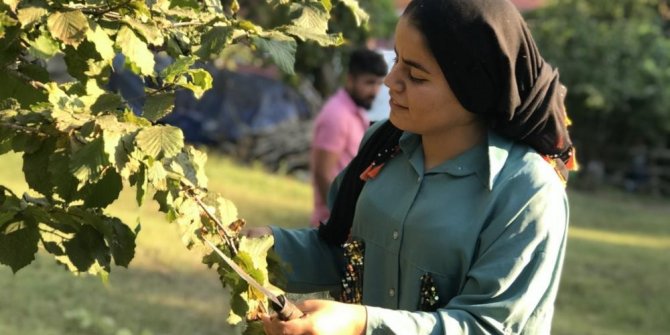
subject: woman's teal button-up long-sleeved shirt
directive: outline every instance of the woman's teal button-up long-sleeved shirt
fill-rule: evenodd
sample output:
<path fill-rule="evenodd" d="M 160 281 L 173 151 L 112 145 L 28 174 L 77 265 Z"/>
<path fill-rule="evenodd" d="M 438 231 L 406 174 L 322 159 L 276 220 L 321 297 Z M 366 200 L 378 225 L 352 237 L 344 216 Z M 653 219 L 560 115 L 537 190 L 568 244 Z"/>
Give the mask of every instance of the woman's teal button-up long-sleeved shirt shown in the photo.
<path fill-rule="evenodd" d="M 418 135 L 403 134 L 400 148 L 366 182 L 352 227 L 365 241 L 367 334 L 548 334 L 568 224 L 553 168 L 493 133 L 429 171 Z M 338 287 L 340 248 L 315 229 L 273 234 L 293 270 L 288 291 Z M 424 274 L 435 281 L 436 312 L 417 311 Z"/>

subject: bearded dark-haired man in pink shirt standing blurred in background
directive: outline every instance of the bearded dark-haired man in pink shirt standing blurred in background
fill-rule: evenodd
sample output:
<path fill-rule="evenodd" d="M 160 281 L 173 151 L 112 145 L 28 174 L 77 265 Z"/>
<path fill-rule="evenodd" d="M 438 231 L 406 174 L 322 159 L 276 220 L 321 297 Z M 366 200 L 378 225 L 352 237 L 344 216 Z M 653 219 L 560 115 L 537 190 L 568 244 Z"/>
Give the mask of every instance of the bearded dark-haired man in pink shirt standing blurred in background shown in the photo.
<path fill-rule="evenodd" d="M 324 104 L 314 121 L 311 151 L 314 227 L 328 219 L 328 188 L 335 176 L 358 151 L 365 130 L 370 125 L 366 111 L 372 106 L 387 72 L 384 58 L 367 49 L 354 51 L 344 86 Z"/>

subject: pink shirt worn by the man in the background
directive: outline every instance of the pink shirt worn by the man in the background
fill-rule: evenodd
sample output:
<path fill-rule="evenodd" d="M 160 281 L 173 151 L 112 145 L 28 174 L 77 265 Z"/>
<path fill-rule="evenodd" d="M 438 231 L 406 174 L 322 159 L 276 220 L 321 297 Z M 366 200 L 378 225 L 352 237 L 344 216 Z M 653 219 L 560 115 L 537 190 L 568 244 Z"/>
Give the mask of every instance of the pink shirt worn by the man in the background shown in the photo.
<path fill-rule="evenodd" d="M 337 153 L 337 166 L 330 173 L 330 179 L 335 179 L 344 167 L 351 162 L 358 152 L 365 130 L 370 126 L 370 120 L 365 110 L 358 107 L 347 91 L 338 90 L 321 108 L 321 112 L 314 120 L 312 134 L 311 163 L 314 166 L 314 149 L 322 149 Z M 319 221 L 328 219 L 330 215 L 326 206 L 326 199 L 319 194 L 312 171 L 312 189 L 314 190 L 314 211 L 310 224 L 314 227 Z"/>

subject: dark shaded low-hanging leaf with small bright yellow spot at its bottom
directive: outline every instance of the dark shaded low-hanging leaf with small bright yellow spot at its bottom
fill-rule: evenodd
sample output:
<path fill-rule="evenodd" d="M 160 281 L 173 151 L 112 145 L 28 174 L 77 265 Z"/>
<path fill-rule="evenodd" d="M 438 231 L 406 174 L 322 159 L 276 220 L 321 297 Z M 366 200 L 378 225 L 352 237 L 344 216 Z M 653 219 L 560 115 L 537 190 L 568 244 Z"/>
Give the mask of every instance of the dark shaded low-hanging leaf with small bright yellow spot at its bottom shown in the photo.
<path fill-rule="evenodd" d="M 65 253 L 81 272 L 88 272 L 95 265 L 109 269 L 110 253 L 102 233 L 90 225 L 84 225 L 74 237 L 63 242 Z"/>

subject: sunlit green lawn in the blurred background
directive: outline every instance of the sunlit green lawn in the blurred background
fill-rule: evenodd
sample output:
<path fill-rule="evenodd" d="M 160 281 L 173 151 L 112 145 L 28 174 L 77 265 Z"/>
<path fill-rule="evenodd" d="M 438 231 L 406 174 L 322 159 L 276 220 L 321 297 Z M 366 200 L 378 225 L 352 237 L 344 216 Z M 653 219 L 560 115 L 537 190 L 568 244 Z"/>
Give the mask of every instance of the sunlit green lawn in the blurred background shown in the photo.
<path fill-rule="evenodd" d="M 305 226 L 311 191 L 301 181 L 210 157 L 210 189 L 253 225 Z M 0 160 L 0 184 L 25 190 L 21 160 Z M 670 329 L 670 201 L 571 192 L 568 255 L 554 334 L 662 334 Z M 154 207 L 132 192 L 110 213 L 142 232 L 130 269 L 107 286 L 75 277 L 45 254 L 12 275 L 0 266 L 0 334 L 228 334 L 216 274 L 184 248 Z M 119 335 L 123 331 L 119 332 Z M 127 333 L 126 333 L 127 334 Z"/>

